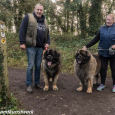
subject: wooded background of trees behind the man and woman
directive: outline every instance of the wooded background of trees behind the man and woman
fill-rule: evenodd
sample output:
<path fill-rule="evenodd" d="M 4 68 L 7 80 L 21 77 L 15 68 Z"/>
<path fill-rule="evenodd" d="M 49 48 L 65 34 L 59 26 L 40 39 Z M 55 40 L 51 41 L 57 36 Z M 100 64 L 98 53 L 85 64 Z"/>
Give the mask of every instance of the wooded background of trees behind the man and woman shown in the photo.
<path fill-rule="evenodd" d="M 52 34 L 95 35 L 106 15 L 115 13 L 115 0 L 0 0 L 0 20 L 16 33 L 23 17 L 41 3 Z"/>

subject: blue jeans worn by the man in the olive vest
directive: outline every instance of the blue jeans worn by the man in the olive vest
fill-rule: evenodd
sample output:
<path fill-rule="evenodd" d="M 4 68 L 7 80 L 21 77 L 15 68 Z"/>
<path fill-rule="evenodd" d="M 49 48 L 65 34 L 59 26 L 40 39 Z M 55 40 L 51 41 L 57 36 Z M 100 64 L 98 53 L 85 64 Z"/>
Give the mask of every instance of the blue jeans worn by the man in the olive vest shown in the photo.
<path fill-rule="evenodd" d="M 26 52 L 27 52 L 27 59 L 28 59 L 26 84 L 27 84 L 27 86 L 32 85 L 32 82 L 33 82 L 33 80 L 32 80 L 33 77 L 32 76 L 33 76 L 33 67 L 34 67 L 34 65 L 35 65 L 34 83 L 39 84 L 43 48 L 27 47 Z"/>

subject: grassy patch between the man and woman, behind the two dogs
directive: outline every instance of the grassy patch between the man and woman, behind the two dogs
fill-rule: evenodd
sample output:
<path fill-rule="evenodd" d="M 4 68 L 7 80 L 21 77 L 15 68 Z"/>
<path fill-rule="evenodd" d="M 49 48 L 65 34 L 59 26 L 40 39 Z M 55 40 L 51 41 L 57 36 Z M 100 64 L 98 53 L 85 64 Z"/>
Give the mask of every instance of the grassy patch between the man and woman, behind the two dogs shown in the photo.
<path fill-rule="evenodd" d="M 81 49 L 86 43 L 92 39 L 92 37 L 87 38 L 87 40 L 79 39 L 76 36 L 63 35 L 63 36 L 52 36 L 57 50 L 61 53 L 62 57 L 62 72 L 64 73 L 74 73 L 74 60 L 75 53 L 78 49 Z M 90 49 L 91 52 L 96 52 L 96 46 Z"/>

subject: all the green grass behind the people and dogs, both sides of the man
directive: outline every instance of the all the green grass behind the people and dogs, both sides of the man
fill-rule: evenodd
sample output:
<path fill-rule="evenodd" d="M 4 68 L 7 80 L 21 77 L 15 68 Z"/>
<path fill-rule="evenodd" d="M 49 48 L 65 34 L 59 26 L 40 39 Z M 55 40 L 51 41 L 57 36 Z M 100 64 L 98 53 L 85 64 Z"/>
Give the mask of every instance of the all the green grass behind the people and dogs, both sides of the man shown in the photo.
<path fill-rule="evenodd" d="M 72 35 L 51 35 L 50 48 L 57 49 L 61 53 L 62 58 L 62 73 L 74 73 L 74 56 L 78 49 L 81 49 L 89 40 L 93 37 L 87 37 L 84 39 L 79 39 L 77 36 Z M 7 33 L 7 53 L 8 53 L 8 67 L 15 68 L 26 68 L 27 67 L 27 56 L 26 51 L 20 49 L 19 38 L 17 34 Z M 97 46 L 93 46 L 90 49 L 91 52 L 96 52 L 94 50 Z"/>

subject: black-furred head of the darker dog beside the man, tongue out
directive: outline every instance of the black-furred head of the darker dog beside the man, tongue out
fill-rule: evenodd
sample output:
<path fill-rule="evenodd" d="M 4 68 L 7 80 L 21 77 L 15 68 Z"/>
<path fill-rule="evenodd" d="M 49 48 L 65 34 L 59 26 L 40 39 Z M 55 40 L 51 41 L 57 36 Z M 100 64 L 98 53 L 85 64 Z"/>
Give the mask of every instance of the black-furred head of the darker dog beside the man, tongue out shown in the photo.
<path fill-rule="evenodd" d="M 48 66 L 51 66 L 52 64 L 56 64 L 59 62 L 60 54 L 53 49 L 48 49 L 44 53 L 44 58 L 46 59 L 46 63 Z"/>

